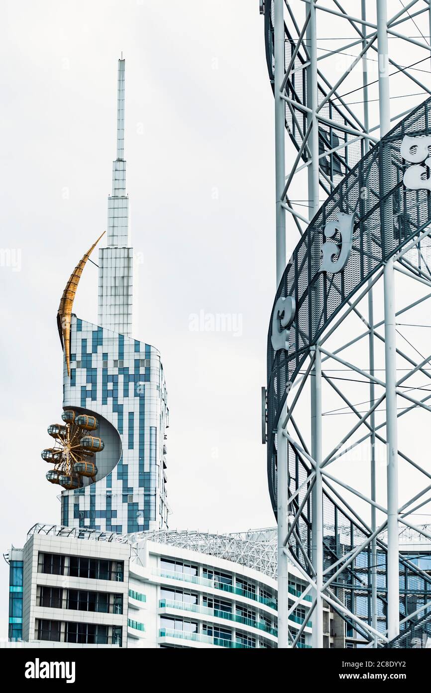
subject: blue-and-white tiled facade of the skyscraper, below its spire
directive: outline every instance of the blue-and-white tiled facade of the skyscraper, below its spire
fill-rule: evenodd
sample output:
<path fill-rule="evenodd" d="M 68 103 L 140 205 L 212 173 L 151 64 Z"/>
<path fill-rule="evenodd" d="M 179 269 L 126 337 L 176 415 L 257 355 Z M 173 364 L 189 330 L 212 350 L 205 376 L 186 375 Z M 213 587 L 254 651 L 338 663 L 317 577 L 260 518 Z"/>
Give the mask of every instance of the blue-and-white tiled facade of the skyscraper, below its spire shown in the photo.
<path fill-rule="evenodd" d="M 108 462 L 107 475 L 62 492 L 62 525 L 120 533 L 167 527 L 169 412 L 160 353 L 73 317 L 71 377 L 64 364 L 63 406 L 106 419 L 121 443 L 115 448 L 120 457 Z M 102 438 L 109 455 L 112 446 L 104 434 Z"/>

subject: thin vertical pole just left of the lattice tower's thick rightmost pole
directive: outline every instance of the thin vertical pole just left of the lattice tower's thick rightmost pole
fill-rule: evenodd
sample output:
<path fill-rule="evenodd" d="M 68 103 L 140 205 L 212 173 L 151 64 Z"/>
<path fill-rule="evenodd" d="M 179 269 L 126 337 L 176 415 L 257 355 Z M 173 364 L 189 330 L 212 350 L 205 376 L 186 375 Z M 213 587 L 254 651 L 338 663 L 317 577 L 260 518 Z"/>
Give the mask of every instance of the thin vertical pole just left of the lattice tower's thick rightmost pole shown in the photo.
<path fill-rule="evenodd" d="M 367 11 L 365 8 L 365 0 L 360 0 L 361 9 L 361 19 L 363 21 L 367 20 Z M 366 28 L 363 25 L 363 42 L 362 48 L 365 51 L 367 46 Z M 363 59 L 363 89 L 364 89 L 364 125 L 365 132 L 369 132 L 369 111 L 368 111 L 368 63 L 367 54 L 364 53 Z M 364 139 L 364 153 L 366 154 L 369 150 L 369 140 Z M 365 197 L 365 204 L 367 204 L 368 197 Z M 368 322 L 370 326 L 369 336 L 368 336 L 368 354 L 369 354 L 369 373 L 374 376 L 374 306 L 373 306 L 373 288 L 372 280 L 369 280 L 369 290 L 368 290 Z M 374 382 L 369 381 L 369 406 L 374 405 Z M 371 493 L 370 496 L 372 500 L 376 500 L 376 416 L 374 412 L 369 417 L 369 423 L 372 427 L 372 435 L 369 439 L 369 452 L 370 452 L 370 477 L 371 477 Z M 376 508 L 372 505 L 371 508 L 371 529 L 374 533 L 376 530 Z M 371 543 L 371 624 L 374 630 L 377 630 L 377 541 L 376 538 L 372 539 Z M 377 637 L 374 635 L 373 647 L 377 647 Z"/>

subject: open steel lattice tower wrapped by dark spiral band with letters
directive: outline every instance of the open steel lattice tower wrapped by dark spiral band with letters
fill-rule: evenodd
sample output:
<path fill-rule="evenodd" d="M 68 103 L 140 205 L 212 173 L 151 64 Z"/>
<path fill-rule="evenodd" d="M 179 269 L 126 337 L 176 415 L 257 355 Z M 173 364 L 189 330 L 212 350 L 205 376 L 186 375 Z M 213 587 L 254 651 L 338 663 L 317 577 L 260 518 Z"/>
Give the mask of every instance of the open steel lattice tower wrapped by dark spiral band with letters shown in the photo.
<path fill-rule="evenodd" d="M 261 2 L 275 96 L 277 292 L 264 441 L 279 647 L 392 647 L 429 617 L 430 3 Z M 288 162 L 288 163 L 287 163 Z M 308 191 L 304 195 L 304 189 Z M 288 249 L 288 252 L 287 252 Z M 291 633 L 288 559 L 309 612 Z"/>

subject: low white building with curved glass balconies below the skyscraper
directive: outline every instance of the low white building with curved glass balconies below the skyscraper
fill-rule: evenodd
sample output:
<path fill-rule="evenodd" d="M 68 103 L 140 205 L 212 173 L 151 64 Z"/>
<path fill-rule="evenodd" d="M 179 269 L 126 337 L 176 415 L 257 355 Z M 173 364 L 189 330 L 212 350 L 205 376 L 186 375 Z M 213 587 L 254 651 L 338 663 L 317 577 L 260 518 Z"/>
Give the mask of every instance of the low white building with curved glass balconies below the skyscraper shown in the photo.
<path fill-rule="evenodd" d="M 41 647 L 277 647 L 277 555 L 272 537 L 258 534 L 35 525 L 24 549 L 9 552 L 10 637 Z M 300 598 L 304 583 L 294 569 L 290 577 L 295 635 L 311 597 Z M 20 580 L 21 591 L 12 584 Z M 302 647 L 310 636 L 308 623 Z"/>

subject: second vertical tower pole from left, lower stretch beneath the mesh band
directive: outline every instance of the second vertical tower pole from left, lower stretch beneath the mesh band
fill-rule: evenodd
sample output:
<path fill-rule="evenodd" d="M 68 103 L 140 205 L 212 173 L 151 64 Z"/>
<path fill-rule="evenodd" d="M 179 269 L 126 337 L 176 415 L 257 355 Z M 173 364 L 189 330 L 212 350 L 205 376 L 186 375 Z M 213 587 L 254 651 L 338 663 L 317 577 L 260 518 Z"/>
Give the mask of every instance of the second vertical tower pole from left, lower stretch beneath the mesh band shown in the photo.
<path fill-rule="evenodd" d="M 312 347 L 313 349 L 313 347 Z M 322 357 L 317 344 L 315 361 L 311 371 L 311 456 L 315 460 L 315 484 L 311 491 L 311 560 L 316 572 L 315 599 L 313 611 L 313 648 L 323 647 L 323 498 L 322 498 Z"/>

